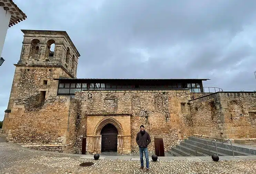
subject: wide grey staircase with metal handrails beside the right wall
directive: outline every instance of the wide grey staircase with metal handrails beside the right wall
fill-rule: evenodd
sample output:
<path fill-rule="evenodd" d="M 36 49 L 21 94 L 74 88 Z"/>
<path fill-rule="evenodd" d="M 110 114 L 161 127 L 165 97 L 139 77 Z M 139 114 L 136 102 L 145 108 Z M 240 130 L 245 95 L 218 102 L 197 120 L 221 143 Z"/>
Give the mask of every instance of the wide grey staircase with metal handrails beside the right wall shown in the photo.
<path fill-rule="evenodd" d="M 191 136 L 188 139 L 185 139 L 184 142 L 180 142 L 180 145 L 171 148 L 168 153 L 170 153 L 171 156 L 211 156 L 213 154 L 216 154 L 216 147 L 214 141 L 207 144 L 210 141 L 211 140 L 208 139 Z M 217 141 L 216 143 L 217 146 L 219 145 L 217 147 L 219 156 L 233 156 L 232 148 L 229 142 L 221 144 L 221 142 Z M 205 144 L 207 145 L 204 148 L 200 149 Z M 198 152 L 193 153 L 196 150 L 198 150 Z M 243 145 L 233 144 L 233 150 L 235 156 L 256 155 L 256 148 L 250 148 Z"/>

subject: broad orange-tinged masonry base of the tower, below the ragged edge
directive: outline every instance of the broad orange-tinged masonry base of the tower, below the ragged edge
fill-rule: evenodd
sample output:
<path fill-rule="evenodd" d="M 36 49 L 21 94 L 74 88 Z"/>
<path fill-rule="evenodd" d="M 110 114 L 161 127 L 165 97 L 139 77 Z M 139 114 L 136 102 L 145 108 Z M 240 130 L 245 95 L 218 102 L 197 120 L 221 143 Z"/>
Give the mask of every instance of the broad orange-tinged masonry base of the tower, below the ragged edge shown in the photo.
<path fill-rule="evenodd" d="M 18 108 L 7 138 L 23 145 L 66 144 L 69 99 L 58 96 L 48 99 L 39 108 Z M 61 109 L 60 109 L 61 108 Z"/>

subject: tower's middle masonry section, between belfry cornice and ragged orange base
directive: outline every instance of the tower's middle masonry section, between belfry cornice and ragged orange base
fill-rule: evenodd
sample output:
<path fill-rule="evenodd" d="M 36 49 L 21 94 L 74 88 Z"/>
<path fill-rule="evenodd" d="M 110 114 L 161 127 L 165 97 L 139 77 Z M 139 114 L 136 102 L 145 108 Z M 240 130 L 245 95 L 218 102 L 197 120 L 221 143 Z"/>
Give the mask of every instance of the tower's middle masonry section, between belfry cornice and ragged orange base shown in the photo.
<path fill-rule="evenodd" d="M 17 66 L 12 82 L 12 89 L 8 109 L 13 108 L 16 102 L 27 101 L 27 105 L 38 104 L 40 91 L 47 91 L 47 97 L 57 95 L 58 81 L 53 78 L 70 77 L 62 68 Z M 44 84 L 47 80 L 47 84 Z"/>

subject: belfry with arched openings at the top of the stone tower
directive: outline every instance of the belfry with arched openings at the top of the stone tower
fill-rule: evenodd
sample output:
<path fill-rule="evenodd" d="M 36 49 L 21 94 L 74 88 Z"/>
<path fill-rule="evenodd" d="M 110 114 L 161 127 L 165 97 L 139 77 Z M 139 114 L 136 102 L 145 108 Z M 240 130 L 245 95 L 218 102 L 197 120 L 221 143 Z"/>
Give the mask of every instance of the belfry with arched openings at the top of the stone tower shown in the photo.
<path fill-rule="evenodd" d="M 66 31 L 21 30 L 24 33 L 20 66 L 62 67 L 76 78 L 80 54 Z"/>

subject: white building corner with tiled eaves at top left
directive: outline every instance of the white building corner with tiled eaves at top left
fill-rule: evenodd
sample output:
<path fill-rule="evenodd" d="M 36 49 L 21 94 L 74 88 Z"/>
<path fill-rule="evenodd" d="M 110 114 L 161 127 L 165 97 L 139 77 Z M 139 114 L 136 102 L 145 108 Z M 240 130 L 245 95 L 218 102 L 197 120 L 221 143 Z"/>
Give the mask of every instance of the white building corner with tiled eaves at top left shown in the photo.
<path fill-rule="evenodd" d="M 11 27 L 27 18 L 12 0 L 0 0 L 0 55 L 8 27 Z"/>

